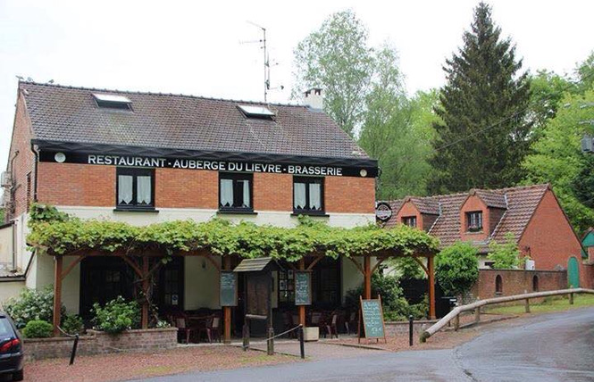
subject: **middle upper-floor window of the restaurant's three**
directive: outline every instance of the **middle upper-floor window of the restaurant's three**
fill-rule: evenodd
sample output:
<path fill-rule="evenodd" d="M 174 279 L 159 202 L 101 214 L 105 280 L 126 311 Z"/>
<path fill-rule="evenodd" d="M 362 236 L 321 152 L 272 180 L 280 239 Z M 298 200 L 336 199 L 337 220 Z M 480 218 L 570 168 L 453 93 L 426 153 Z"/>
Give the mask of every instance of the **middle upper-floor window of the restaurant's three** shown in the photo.
<path fill-rule="evenodd" d="M 254 211 L 252 206 L 253 174 L 219 173 L 219 209 Z"/>

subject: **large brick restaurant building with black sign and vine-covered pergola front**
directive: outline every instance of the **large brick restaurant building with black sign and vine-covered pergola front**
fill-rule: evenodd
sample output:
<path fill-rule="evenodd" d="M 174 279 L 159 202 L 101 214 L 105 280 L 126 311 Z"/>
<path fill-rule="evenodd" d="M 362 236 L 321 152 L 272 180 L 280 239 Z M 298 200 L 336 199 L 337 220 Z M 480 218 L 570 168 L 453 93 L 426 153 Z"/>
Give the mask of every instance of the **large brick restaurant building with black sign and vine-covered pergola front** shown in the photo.
<path fill-rule="evenodd" d="M 52 258 L 25 245 L 34 201 L 138 225 L 218 216 L 290 227 L 299 214 L 338 227 L 374 221 L 377 161 L 319 109 L 321 97 L 262 104 L 20 82 L 4 173 L 13 268 L 29 287 L 54 279 Z M 212 264 L 179 257 L 161 271 L 164 309 L 220 307 Z M 67 310 L 86 314 L 127 293 L 129 273 L 121 259 L 83 260 L 63 279 Z M 275 278 L 273 304 L 292 303 L 292 273 Z M 351 262 L 318 262 L 314 303 L 339 304 L 362 279 Z"/>

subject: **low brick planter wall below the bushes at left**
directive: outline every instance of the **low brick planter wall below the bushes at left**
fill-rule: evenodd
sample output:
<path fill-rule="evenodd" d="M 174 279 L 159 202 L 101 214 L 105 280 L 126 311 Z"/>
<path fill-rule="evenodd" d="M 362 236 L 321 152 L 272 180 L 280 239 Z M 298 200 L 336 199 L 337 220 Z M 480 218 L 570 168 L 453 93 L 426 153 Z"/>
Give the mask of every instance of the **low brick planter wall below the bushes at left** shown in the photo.
<path fill-rule="evenodd" d="M 88 330 L 80 336 L 77 355 L 119 352 L 149 352 L 177 346 L 177 328 L 128 330 L 118 335 Z M 74 338 L 25 338 L 25 358 L 28 361 L 70 357 Z"/>

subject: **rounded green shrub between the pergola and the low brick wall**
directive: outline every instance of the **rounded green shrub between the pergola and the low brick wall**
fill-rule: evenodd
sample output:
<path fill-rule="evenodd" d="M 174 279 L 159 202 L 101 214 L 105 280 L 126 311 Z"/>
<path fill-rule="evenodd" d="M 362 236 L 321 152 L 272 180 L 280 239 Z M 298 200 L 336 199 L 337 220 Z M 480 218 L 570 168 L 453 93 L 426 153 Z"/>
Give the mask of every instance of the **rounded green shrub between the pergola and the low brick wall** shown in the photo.
<path fill-rule="evenodd" d="M 464 295 L 479 278 L 478 251 L 467 242 L 444 248 L 437 256 L 435 276 L 448 295 Z"/>

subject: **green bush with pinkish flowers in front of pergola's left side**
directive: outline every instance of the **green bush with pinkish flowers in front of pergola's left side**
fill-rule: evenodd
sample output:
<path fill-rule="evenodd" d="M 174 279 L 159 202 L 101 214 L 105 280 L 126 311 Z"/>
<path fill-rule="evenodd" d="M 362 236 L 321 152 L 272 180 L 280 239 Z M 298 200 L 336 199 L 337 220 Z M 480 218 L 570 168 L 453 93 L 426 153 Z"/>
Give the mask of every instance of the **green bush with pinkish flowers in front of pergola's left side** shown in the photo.
<path fill-rule="evenodd" d="M 138 303 L 127 303 L 120 295 L 116 299 L 105 303 L 102 308 L 98 303 L 93 304 L 95 312 L 95 328 L 107 333 L 120 333 L 124 330 L 140 326 L 140 308 Z"/>

